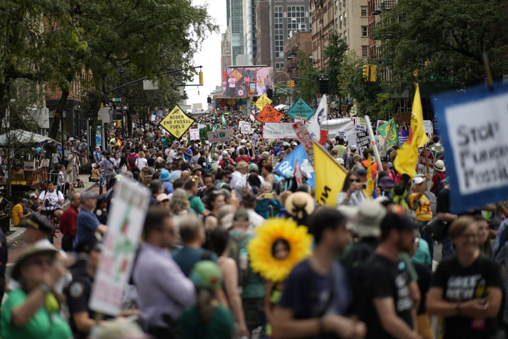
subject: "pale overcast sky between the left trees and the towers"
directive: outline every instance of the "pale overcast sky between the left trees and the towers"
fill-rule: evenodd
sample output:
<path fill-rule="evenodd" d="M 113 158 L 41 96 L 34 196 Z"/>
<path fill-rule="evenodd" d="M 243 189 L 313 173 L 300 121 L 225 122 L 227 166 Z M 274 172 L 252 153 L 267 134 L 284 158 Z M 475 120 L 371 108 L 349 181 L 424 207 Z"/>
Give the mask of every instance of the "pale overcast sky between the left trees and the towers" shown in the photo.
<path fill-rule="evenodd" d="M 215 89 L 215 86 L 221 84 L 220 70 L 220 39 L 221 33 L 226 32 L 226 1 L 225 0 L 193 0 L 193 5 L 208 4 L 208 14 L 214 18 L 215 23 L 219 25 L 220 32 L 209 36 L 201 46 L 201 50 L 194 56 L 194 65 L 203 66 L 204 84 L 203 86 L 187 86 L 188 105 L 202 103 L 203 108 L 207 108 L 207 96 Z M 196 75 L 194 82 L 199 83 L 199 77 Z M 199 95 L 198 95 L 199 89 Z"/>

